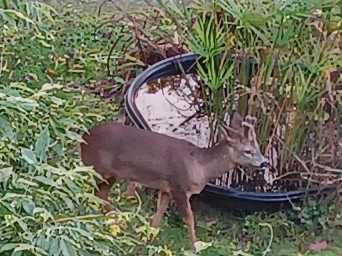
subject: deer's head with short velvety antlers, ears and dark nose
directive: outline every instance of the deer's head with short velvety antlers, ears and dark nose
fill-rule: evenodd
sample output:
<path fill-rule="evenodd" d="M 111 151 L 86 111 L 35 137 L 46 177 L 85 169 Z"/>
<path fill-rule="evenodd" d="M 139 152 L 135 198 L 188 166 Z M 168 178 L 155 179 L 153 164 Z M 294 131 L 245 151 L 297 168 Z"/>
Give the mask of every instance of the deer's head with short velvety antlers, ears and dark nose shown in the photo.
<path fill-rule="evenodd" d="M 234 112 L 230 126 L 222 127 L 228 145 L 233 149 L 232 160 L 242 166 L 253 166 L 266 168 L 268 160 L 265 158 L 259 148 L 257 136 L 254 131 L 254 124 L 257 118 L 246 116 L 245 121 L 237 111 Z"/>

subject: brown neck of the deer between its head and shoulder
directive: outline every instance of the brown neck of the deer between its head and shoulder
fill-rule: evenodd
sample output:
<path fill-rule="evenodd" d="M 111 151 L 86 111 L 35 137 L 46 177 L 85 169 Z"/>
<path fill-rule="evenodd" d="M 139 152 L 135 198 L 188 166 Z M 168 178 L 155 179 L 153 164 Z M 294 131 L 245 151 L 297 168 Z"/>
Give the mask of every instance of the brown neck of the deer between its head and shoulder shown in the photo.
<path fill-rule="evenodd" d="M 233 160 L 235 153 L 233 147 L 229 146 L 226 141 L 222 141 L 211 148 L 203 149 L 199 163 L 203 167 L 206 182 L 235 168 L 236 163 Z"/>

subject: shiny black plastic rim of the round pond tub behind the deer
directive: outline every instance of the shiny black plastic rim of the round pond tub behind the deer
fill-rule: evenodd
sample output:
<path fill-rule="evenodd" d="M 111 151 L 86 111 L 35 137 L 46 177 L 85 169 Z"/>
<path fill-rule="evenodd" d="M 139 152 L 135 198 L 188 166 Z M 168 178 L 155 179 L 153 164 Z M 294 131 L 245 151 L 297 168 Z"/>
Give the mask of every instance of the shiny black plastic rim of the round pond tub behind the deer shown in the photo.
<path fill-rule="evenodd" d="M 157 80 L 162 77 L 181 75 L 182 70 L 180 68 L 180 64 L 186 74 L 194 74 L 196 72 L 196 59 L 198 58 L 199 56 L 193 53 L 171 57 L 155 63 L 136 77 L 136 79 L 128 88 L 125 98 L 126 111 L 136 127 L 145 130 L 151 130 L 135 104 L 135 99 L 139 89 L 147 82 Z M 231 56 L 231 58 L 234 58 L 234 56 Z M 249 80 L 256 71 L 256 66 L 257 61 L 250 59 L 248 67 L 248 74 L 250 76 Z M 211 193 L 240 199 L 281 202 L 300 199 L 304 198 L 305 196 L 315 195 L 317 193 L 320 195 L 328 194 L 334 190 L 334 186 L 323 186 L 320 188 L 311 187 L 309 189 L 300 188 L 298 190 L 291 190 L 287 192 L 253 192 L 242 191 L 234 188 L 224 188 L 213 183 L 208 183 L 205 187 L 205 190 Z"/>

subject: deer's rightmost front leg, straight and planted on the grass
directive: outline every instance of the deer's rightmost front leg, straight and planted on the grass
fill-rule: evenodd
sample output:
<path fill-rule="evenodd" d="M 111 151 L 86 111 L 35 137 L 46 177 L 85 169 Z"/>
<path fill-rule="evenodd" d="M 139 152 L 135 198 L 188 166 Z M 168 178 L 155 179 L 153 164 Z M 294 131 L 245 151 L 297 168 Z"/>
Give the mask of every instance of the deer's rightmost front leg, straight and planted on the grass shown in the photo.
<path fill-rule="evenodd" d="M 184 195 L 175 195 L 173 194 L 175 203 L 178 207 L 178 209 L 182 212 L 185 223 L 188 227 L 188 231 L 190 234 L 190 243 L 191 247 L 194 249 L 195 248 L 195 242 L 196 242 L 196 232 L 195 232 L 195 219 L 194 219 L 194 214 L 191 209 L 191 205 L 189 202 L 189 197 L 184 194 Z"/>

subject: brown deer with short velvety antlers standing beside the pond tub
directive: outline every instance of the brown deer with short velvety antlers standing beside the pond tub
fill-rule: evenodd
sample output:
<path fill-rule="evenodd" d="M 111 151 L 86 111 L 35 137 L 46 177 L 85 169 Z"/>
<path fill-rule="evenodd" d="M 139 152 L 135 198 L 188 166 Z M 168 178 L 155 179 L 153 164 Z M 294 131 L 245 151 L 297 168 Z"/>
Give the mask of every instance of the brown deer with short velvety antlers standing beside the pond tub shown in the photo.
<path fill-rule="evenodd" d="M 104 201 L 107 211 L 114 209 L 108 192 L 121 181 L 159 190 L 152 227 L 159 227 L 173 199 L 184 217 L 194 249 L 196 234 L 190 197 L 199 194 L 210 180 L 238 165 L 263 169 L 268 165 L 257 142 L 256 121 L 249 115 L 243 120 L 235 111 L 230 125 L 221 126 L 225 139 L 209 148 L 122 123 L 101 124 L 83 134 L 81 159 L 107 181 L 98 181 L 95 190 L 95 196 Z"/>

